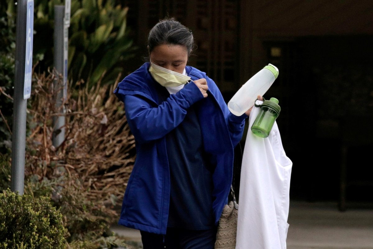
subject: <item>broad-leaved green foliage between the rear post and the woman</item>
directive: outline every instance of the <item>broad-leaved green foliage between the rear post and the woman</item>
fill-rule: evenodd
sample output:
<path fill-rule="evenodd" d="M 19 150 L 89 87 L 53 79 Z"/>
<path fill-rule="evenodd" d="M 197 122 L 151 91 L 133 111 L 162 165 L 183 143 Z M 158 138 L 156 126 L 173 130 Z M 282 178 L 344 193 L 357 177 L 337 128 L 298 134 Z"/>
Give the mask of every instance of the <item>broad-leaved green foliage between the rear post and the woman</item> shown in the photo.
<path fill-rule="evenodd" d="M 90 86 L 113 84 L 123 72 L 124 62 L 134 56 L 126 34 L 128 7 L 115 0 L 73 0 L 69 32 L 69 75 L 73 82 Z"/>

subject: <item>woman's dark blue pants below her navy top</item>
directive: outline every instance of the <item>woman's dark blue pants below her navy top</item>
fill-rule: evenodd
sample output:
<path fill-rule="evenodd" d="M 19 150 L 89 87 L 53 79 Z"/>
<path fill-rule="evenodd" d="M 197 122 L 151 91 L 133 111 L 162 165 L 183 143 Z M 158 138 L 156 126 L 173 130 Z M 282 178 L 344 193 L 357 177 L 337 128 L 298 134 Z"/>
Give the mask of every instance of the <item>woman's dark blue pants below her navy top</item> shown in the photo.
<path fill-rule="evenodd" d="M 216 228 L 188 230 L 167 228 L 166 235 L 140 231 L 144 249 L 213 249 Z"/>

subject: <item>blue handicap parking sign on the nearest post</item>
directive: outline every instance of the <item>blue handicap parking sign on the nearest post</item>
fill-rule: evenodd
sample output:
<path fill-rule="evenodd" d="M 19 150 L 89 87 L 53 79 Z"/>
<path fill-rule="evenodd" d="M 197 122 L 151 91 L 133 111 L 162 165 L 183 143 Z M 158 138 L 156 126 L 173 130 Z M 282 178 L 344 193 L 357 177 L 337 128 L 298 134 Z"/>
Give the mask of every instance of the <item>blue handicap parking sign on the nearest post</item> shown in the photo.
<path fill-rule="evenodd" d="M 26 11 L 25 84 L 23 86 L 23 99 L 28 99 L 31 96 L 32 40 L 34 38 L 34 0 L 27 0 Z"/>

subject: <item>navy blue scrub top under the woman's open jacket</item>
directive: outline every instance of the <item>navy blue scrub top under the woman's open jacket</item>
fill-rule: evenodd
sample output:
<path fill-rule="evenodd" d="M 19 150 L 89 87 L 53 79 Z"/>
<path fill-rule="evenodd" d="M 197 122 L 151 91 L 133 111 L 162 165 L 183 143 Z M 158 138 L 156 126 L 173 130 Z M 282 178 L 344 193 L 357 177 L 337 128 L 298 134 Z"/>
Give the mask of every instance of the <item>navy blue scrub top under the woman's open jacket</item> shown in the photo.
<path fill-rule="evenodd" d="M 193 83 L 188 83 L 193 84 Z M 169 96 L 165 87 L 156 87 L 159 102 Z M 170 206 L 167 227 L 204 230 L 214 227 L 212 171 L 203 153 L 201 128 L 194 103 L 184 120 L 166 135 L 170 166 Z"/>

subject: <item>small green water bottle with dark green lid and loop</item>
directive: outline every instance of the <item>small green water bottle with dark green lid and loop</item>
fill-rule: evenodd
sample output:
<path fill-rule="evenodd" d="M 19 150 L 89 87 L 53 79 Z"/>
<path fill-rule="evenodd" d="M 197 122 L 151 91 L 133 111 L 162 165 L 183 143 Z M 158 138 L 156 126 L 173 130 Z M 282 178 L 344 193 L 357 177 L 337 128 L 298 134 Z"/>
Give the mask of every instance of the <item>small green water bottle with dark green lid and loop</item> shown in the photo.
<path fill-rule="evenodd" d="M 260 111 L 256 117 L 254 124 L 251 126 L 251 131 L 258 137 L 268 137 L 275 124 L 276 118 L 279 116 L 281 108 L 278 105 L 279 101 L 276 98 L 264 100 L 260 106 Z"/>

